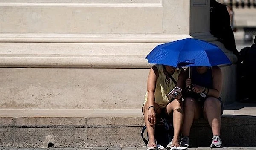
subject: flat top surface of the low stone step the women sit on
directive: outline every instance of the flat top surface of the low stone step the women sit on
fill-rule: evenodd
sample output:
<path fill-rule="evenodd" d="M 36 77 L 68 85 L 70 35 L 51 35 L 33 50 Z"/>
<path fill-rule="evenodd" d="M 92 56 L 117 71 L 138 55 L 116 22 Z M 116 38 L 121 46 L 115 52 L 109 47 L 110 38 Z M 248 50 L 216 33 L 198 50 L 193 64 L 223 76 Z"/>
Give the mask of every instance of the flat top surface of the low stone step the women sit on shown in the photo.
<path fill-rule="evenodd" d="M 256 117 L 256 104 L 233 103 L 225 106 L 224 118 Z M 0 109 L 0 117 L 143 117 L 140 109 Z"/>

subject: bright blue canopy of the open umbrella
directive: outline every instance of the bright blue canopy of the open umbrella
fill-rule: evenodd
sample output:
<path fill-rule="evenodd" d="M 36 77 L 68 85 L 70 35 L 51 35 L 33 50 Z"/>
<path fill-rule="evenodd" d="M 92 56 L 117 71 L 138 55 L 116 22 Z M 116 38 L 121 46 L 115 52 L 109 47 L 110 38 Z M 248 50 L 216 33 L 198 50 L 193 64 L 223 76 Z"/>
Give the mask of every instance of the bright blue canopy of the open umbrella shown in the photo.
<path fill-rule="evenodd" d="M 145 59 L 148 63 L 173 67 L 216 66 L 231 63 L 217 45 L 192 38 L 160 44 Z"/>

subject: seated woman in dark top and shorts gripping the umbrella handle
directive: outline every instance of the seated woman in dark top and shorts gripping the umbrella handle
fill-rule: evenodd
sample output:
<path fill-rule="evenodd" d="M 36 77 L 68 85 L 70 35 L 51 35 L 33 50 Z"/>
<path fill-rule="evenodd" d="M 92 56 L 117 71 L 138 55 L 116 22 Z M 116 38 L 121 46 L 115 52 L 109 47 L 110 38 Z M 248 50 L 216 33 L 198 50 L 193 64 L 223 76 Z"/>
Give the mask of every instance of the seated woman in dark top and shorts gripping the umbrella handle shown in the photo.
<path fill-rule="evenodd" d="M 189 68 L 186 75 L 189 75 Z M 184 121 L 182 127 L 182 146 L 189 147 L 189 133 L 194 120 L 202 115 L 212 128 L 211 148 L 222 147 L 221 115 L 223 103 L 220 98 L 222 72 L 218 66 L 190 67 L 191 78 L 186 79 L 186 98 L 184 100 Z M 189 88 L 190 87 L 190 88 Z"/>

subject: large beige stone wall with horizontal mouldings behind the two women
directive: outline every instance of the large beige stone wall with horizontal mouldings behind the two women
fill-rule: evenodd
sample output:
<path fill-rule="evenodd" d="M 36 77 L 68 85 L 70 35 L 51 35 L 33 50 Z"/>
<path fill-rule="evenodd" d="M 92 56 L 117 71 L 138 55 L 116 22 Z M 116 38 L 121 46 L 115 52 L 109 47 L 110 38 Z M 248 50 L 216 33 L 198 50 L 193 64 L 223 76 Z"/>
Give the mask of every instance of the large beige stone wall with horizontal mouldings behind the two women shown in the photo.
<path fill-rule="evenodd" d="M 0 18 L 4 109 L 139 109 L 155 46 L 218 43 L 209 0 L 0 0 Z M 223 97 L 234 101 L 236 66 L 223 70 Z"/>

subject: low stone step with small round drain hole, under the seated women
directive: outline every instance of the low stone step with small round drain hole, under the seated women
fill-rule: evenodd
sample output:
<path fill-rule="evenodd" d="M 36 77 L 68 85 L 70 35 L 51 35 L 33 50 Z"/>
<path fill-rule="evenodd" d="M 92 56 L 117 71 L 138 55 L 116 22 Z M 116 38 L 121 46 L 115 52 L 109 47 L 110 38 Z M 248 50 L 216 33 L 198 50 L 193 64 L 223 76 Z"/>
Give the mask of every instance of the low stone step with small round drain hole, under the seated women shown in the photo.
<path fill-rule="evenodd" d="M 227 105 L 221 120 L 224 146 L 256 146 L 256 104 Z M 141 147 L 144 126 L 139 109 L 0 110 L 2 147 Z M 195 121 L 190 142 L 209 147 L 212 132 L 204 119 Z M 239 139 L 239 140 L 238 140 Z"/>

